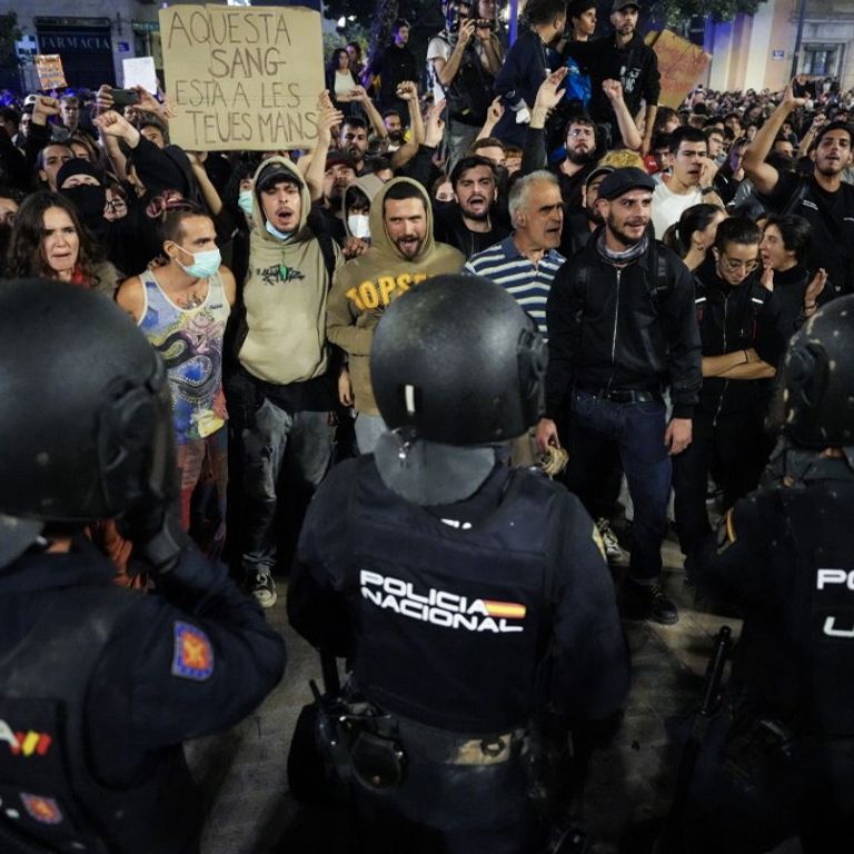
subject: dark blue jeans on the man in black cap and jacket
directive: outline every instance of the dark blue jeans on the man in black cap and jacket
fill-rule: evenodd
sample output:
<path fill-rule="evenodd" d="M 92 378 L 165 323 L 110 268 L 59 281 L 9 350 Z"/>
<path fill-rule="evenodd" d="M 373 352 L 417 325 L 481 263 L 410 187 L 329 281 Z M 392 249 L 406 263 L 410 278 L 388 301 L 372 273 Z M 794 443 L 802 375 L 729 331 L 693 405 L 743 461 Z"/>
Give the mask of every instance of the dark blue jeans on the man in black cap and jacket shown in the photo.
<path fill-rule="evenodd" d="M 662 572 L 662 540 L 671 494 L 671 457 L 663 401 L 615 404 L 573 391 L 569 405 L 566 485 L 588 513 L 595 510 L 598 481 L 608 471 L 616 444 L 635 506 L 629 577 L 649 584 Z"/>

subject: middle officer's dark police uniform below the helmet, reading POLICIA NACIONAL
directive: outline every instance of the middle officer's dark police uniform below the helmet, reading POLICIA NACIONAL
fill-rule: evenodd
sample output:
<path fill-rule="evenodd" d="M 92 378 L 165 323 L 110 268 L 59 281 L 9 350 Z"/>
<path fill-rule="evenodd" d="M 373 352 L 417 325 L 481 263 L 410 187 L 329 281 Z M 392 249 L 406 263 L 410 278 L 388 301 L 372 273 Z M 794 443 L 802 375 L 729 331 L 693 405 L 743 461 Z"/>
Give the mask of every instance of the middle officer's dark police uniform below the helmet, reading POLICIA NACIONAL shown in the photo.
<path fill-rule="evenodd" d="M 352 784 L 365 851 L 535 851 L 532 724 L 605 718 L 628 688 L 593 522 L 534 471 L 496 466 L 471 497 L 424 507 L 374 456 L 337 466 L 288 605 L 310 643 L 349 656 L 369 735 L 403 754 L 394 785 Z"/>

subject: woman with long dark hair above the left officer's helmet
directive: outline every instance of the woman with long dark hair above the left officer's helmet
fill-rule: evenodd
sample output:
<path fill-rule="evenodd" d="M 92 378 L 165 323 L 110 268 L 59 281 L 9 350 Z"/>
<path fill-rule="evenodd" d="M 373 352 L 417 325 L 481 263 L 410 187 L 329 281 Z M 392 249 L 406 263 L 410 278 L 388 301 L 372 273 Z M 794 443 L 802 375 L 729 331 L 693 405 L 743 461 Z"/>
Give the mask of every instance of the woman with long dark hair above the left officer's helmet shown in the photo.
<path fill-rule="evenodd" d="M 9 278 L 46 278 L 101 290 L 117 288 L 116 268 L 82 225 L 75 206 L 56 192 L 28 196 L 18 209 L 7 264 Z"/>

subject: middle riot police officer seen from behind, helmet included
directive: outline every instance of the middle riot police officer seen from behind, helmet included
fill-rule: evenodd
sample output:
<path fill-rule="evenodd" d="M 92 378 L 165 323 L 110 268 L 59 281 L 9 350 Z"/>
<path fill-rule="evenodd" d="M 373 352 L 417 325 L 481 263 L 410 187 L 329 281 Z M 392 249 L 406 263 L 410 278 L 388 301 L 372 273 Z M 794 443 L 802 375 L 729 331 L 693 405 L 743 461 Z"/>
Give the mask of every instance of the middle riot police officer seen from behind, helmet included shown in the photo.
<path fill-rule="evenodd" d="M 364 850 L 542 851 L 538 739 L 628 687 L 590 517 L 498 458 L 542 413 L 543 339 L 502 287 L 438 276 L 386 311 L 370 361 L 391 433 L 315 496 L 288 602 L 298 632 L 349 656 Z"/>

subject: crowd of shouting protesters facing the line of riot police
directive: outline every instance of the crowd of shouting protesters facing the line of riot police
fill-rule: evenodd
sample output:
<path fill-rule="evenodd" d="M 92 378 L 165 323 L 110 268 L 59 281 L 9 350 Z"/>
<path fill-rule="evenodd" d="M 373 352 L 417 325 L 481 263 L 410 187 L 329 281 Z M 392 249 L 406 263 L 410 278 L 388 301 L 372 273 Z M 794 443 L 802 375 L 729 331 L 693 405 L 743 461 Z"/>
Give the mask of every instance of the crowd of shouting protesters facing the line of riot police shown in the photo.
<path fill-rule="evenodd" d="M 577 277 L 578 254 L 595 252 L 605 229 L 628 255 L 644 240 L 682 259 L 697 377 L 676 394 L 659 366 L 647 386 L 668 419 L 693 424 L 671 444 L 658 490 L 665 502 L 675 490 L 688 575 L 709 489 L 725 509 L 767 460 L 763 420 L 785 341 L 817 306 L 854 291 L 854 91 L 833 79 L 777 92 L 697 86 L 672 109 L 658 105 L 636 3 L 617 0 L 613 33 L 592 40 L 608 29 L 595 6 L 530 0 L 512 46 L 495 0 L 443 11 L 425 57 L 409 49 L 405 20 L 373 64 L 357 42 L 331 52 L 317 143 L 304 151 L 183 150 L 170 142 L 168 101 L 142 89 L 123 108 L 103 86 L 9 96 L 2 109 L 4 277 L 97 289 L 136 319 L 169 368 L 182 523 L 205 548 L 226 548 L 266 606 L 315 487 L 385 428 L 373 330 L 424 278 L 465 268 L 502 284 L 552 332 L 554 354 L 567 341 L 555 340 L 559 322 L 550 328 L 553 285 L 562 269 Z M 620 232 L 618 197 L 599 192 L 626 170 L 649 189 Z M 568 358 L 567 393 L 584 360 Z M 549 429 L 514 455 L 569 448 L 564 476 L 613 560 L 625 558 L 612 524 L 629 475 L 633 557 L 657 554 L 667 512 L 651 518 L 638 500 L 625 443 L 612 436 L 585 473 L 595 488 L 578 486 L 577 418 L 553 403 Z M 640 616 L 673 622 L 661 559 L 649 566 L 635 578 Z"/>

